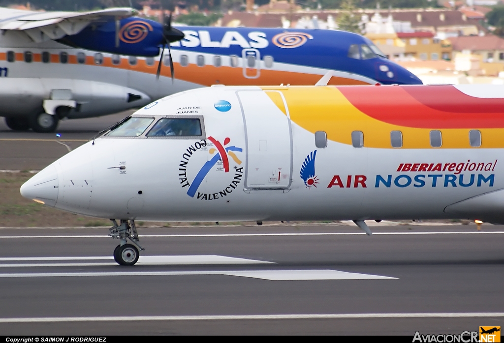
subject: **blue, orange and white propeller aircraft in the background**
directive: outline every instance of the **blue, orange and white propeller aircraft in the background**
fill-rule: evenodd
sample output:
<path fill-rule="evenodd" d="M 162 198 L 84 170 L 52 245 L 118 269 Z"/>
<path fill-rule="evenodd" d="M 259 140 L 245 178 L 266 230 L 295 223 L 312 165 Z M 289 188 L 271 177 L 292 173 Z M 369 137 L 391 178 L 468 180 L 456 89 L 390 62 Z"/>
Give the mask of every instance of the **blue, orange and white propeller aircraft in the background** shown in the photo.
<path fill-rule="evenodd" d="M 135 13 L 0 9 L 0 116 L 7 125 L 52 132 L 60 119 L 139 108 L 193 88 L 312 85 L 328 71 L 333 72 L 329 84 L 421 83 L 353 33 L 217 27 L 179 31 L 169 21 L 161 25 L 131 17 Z"/>

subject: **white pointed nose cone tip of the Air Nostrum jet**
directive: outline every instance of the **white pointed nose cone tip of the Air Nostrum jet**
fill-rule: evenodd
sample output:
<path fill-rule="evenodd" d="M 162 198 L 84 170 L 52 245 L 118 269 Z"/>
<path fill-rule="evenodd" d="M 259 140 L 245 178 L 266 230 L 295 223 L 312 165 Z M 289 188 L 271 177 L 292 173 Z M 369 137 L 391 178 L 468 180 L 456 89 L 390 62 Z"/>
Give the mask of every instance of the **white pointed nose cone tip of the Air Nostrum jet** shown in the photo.
<path fill-rule="evenodd" d="M 58 200 L 58 174 L 54 165 L 42 169 L 25 182 L 19 191 L 27 199 L 54 207 Z"/>

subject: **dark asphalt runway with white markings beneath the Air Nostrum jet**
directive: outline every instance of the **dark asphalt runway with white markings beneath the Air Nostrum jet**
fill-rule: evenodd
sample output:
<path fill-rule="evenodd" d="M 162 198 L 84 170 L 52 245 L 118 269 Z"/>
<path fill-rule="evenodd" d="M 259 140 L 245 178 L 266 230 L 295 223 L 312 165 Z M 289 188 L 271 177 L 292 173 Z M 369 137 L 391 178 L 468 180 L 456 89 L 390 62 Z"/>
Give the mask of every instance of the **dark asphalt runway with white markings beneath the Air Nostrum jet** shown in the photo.
<path fill-rule="evenodd" d="M 502 325 L 504 226 L 0 230 L 3 334 L 422 334 Z"/>

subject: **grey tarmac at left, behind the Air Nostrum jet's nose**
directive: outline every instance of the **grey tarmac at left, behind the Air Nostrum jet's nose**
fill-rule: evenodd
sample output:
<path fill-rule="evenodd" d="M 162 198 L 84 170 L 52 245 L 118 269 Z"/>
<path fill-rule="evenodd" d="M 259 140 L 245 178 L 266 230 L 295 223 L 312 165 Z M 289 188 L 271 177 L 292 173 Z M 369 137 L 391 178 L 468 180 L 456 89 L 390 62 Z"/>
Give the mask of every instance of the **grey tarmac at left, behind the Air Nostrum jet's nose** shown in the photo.
<path fill-rule="evenodd" d="M 0 169 L 40 170 L 133 112 L 60 121 L 55 133 L 12 131 L 0 118 Z"/>

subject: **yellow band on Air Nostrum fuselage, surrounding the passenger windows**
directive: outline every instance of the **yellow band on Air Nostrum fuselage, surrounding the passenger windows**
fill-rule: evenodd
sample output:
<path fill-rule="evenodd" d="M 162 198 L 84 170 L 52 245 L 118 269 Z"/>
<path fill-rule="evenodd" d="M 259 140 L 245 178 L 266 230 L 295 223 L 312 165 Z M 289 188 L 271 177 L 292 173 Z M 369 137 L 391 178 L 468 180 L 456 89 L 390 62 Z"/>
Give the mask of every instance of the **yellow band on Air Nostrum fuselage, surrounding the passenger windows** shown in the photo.
<path fill-rule="evenodd" d="M 372 91 L 374 86 L 369 87 Z M 329 140 L 343 144 L 352 144 L 352 131 L 362 131 L 364 146 L 371 148 L 391 148 L 390 132 L 401 131 L 403 148 L 431 148 L 429 132 L 439 130 L 443 135 L 443 145 L 440 148 L 460 149 L 471 148 L 469 144 L 469 129 L 418 129 L 398 126 L 376 120 L 359 111 L 343 94 L 333 86 L 328 87 L 262 87 L 264 91 L 278 90 L 283 93 L 289 108 L 290 119 L 308 130 L 325 131 Z M 266 92 L 277 104 L 274 92 Z M 391 99 L 393 102 L 394 99 Z M 285 111 L 283 108 L 280 108 Z M 400 108 L 397 109 L 401 111 Z M 408 113 L 404 113 L 405 116 Z M 475 127 L 474 129 L 479 129 Z M 504 129 L 479 129 L 481 131 L 481 148 L 503 148 Z"/>

